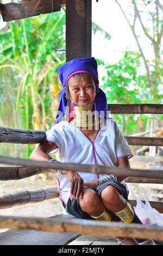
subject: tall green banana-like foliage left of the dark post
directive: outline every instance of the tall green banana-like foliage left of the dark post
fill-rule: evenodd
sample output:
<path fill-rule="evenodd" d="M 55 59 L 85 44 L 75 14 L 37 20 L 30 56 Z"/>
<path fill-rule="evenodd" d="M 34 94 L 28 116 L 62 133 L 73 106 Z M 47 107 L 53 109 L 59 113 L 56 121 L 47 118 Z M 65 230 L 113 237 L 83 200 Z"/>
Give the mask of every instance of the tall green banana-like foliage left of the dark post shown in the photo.
<path fill-rule="evenodd" d="M 51 126 L 60 90 L 57 68 L 65 59 L 64 52 L 55 50 L 65 48 L 64 25 L 65 15 L 57 12 L 8 22 L 0 32 L 2 126 Z M 31 150 L 28 145 L 27 157 Z"/>

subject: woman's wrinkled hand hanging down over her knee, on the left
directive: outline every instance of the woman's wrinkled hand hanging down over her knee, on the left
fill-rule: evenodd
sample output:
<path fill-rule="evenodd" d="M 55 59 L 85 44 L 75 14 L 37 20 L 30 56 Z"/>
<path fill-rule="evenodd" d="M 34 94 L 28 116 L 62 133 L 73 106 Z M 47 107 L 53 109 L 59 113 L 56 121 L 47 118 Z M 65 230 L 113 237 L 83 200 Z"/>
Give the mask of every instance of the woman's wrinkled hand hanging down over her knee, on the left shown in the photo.
<path fill-rule="evenodd" d="M 83 198 L 83 178 L 80 177 L 77 171 L 62 171 L 62 174 L 70 181 L 70 198 L 78 199 Z"/>

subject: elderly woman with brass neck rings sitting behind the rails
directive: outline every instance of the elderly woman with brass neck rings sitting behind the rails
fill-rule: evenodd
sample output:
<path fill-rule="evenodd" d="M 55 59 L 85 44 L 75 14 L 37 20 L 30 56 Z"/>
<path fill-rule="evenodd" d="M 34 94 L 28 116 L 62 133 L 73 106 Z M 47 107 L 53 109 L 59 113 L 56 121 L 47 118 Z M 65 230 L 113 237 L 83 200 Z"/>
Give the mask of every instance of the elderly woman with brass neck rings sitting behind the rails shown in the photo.
<path fill-rule="evenodd" d="M 107 114 L 105 93 L 99 88 L 95 58 L 73 59 L 58 69 L 64 89 L 59 111 L 46 140 L 30 159 L 52 162 L 49 153 L 59 151 L 61 163 L 130 167 L 133 156 L 116 122 Z M 65 107 L 71 112 L 65 121 Z M 84 115 L 85 114 L 85 115 Z M 58 171 L 58 188 L 65 214 L 97 221 L 141 223 L 128 202 L 126 176 Z M 121 245 L 139 245 L 134 238 L 118 238 Z M 141 241 L 142 242 L 142 241 Z M 143 241 L 146 245 L 153 241 Z"/>

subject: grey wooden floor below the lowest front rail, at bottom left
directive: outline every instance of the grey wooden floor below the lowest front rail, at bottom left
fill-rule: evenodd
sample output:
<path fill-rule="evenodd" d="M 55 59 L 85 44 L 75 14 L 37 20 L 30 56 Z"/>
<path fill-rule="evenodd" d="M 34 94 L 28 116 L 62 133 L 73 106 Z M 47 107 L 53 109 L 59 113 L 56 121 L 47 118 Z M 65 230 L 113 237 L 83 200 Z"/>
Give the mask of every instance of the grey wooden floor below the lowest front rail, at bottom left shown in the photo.
<path fill-rule="evenodd" d="M 0 245 L 117 245 L 115 239 L 80 236 L 73 233 L 49 233 L 36 230 L 0 230 Z"/>

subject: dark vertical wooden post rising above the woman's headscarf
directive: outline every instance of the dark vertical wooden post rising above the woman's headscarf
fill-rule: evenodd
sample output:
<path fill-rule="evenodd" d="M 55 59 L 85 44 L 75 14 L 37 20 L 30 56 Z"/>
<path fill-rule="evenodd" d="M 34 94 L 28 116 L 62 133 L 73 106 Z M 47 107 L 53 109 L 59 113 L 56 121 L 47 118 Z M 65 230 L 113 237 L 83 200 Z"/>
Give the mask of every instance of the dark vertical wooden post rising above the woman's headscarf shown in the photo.
<path fill-rule="evenodd" d="M 91 0 L 66 0 L 66 62 L 91 57 Z"/>

